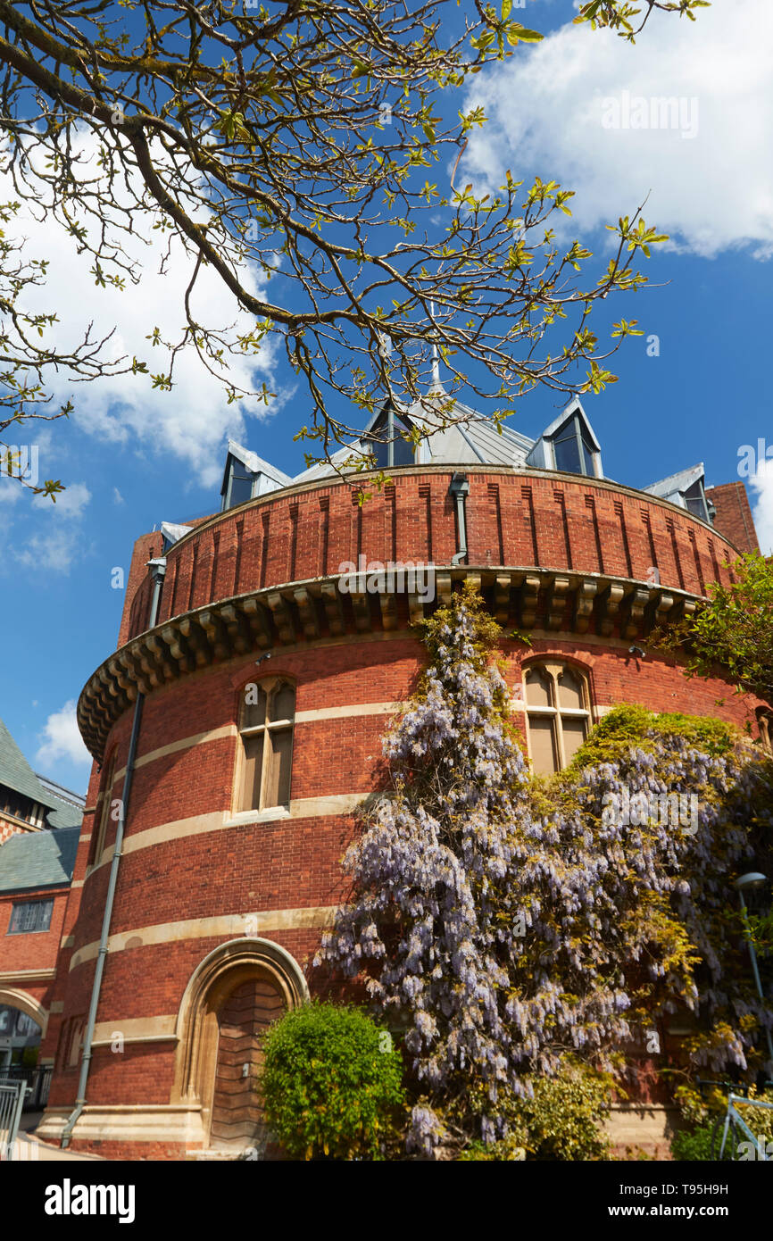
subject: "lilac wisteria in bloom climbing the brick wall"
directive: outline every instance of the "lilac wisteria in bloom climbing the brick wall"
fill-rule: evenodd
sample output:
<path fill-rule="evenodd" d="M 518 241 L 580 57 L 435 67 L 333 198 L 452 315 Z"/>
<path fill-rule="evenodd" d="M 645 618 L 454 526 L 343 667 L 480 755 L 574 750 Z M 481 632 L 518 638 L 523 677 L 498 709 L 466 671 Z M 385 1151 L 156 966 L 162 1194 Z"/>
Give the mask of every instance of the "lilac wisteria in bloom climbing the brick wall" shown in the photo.
<path fill-rule="evenodd" d="M 697 1013 L 690 1050 L 712 1067 L 746 1066 L 772 1020 L 728 913 L 769 769 L 640 728 L 615 761 L 581 753 L 535 783 L 500 638 L 469 589 L 427 622 L 424 684 L 385 740 L 390 786 L 346 854 L 352 901 L 319 958 L 404 1030 L 422 1096 L 408 1148 L 427 1157 L 449 1129 L 505 1137 L 514 1102 L 567 1056 L 619 1069 L 620 1046 L 677 1006 Z M 697 823 L 620 822 L 605 808 L 623 793 L 696 794 Z"/>

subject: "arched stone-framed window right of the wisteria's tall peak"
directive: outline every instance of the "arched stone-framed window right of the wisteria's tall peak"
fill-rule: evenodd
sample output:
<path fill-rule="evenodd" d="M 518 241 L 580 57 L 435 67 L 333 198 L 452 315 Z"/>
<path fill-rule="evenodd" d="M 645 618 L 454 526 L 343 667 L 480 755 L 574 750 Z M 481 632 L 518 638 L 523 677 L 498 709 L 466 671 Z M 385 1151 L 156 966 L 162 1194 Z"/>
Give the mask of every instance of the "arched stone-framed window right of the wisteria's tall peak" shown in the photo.
<path fill-rule="evenodd" d="M 556 660 L 530 664 L 524 671 L 524 699 L 535 772 L 546 776 L 567 767 L 591 727 L 586 678 Z"/>

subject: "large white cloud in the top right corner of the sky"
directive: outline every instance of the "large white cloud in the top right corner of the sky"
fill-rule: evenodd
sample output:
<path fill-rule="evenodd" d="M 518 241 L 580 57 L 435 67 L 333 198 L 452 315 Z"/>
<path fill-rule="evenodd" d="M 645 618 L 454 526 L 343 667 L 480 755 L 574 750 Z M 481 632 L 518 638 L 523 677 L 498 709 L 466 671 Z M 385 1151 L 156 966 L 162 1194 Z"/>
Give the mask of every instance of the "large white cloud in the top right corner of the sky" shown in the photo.
<path fill-rule="evenodd" d="M 653 128 L 676 98 L 676 128 Z M 634 122 L 648 102 L 649 128 Z M 692 101 L 696 101 L 692 104 Z M 749 244 L 773 254 L 773 5 L 733 0 L 697 21 L 654 14 L 635 46 L 609 31 L 565 26 L 530 52 L 481 72 L 467 107 L 489 117 L 464 160 L 468 179 L 499 185 L 536 172 L 576 191 L 572 231 L 632 215 L 651 190 L 648 222 L 712 257 Z M 695 129 L 694 137 L 682 137 Z M 464 184 L 460 177 L 457 184 Z"/>

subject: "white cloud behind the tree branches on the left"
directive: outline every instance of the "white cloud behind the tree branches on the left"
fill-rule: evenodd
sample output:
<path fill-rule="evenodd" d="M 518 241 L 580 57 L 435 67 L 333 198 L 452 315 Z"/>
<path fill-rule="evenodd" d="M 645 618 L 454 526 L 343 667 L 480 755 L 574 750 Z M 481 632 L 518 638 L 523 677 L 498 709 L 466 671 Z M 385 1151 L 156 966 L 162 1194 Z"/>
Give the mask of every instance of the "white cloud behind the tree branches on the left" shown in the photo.
<path fill-rule="evenodd" d="M 94 139 L 91 134 L 79 138 L 81 150 L 91 154 Z M 93 174 L 93 166 L 91 172 Z M 12 184 L 0 175 L 0 201 L 14 200 Z M 197 212 L 197 216 L 201 213 Z M 89 225 L 88 217 L 83 221 Z M 46 343 L 56 340 L 60 347 L 73 347 L 84 330 L 93 323 L 92 335 L 102 338 L 112 328 L 115 333 L 105 346 L 105 356 L 127 355 L 145 361 L 151 372 L 169 369 L 169 355 L 161 347 L 151 347 L 145 338 L 159 328 L 163 339 L 177 341 L 184 330 L 184 294 L 194 269 L 194 259 L 182 252 L 182 247 L 172 242 L 170 256 L 165 262 L 164 273 L 159 273 L 163 256 L 166 253 L 168 238 L 163 232 L 153 231 L 153 218 L 135 213 L 133 217 L 133 236 L 119 235 L 130 258 L 141 269 L 139 284 L 127 279 L 122 292 L 113 287 L 98 288 L 89 274 L 93 266 L 91 256 L 78 256 L 74 243 L 58 225 L 52 222 L 50 213 L 42 211 L 42 218 L 36 220 L 29 205 L 15 221 L 15 235 L 27 238 L 25 256 L 27 258 L 47 258 L 50 261 L 46 285 L 40 290 L 30 290 L 25 307 L 34 310 L 56 310 L 61 323 L 52 333 L 46 333 Z M 257 278 L 249 272 L 242 272 L 246 285 L 256 294 L 261 288 Z M 73 290 L 77 289 L 77 297 Z M 191 310 L 205 326 L 226 329 L 237 324 L 239 331 L 253 326 L 254 320 L 237 311 L 233 298 L 225 288 L 220 277 L 202 267 L 191 295 Z M 56 333 L 56 335 L 55 335 Z M 244 388 L 259 386 L 266 380 L 270 386 L 270 349 L 256 359 L 230 359 L 231 381 Z M 174 372 L 174 387 L 170 392 L 153 388 L 149 376 L 105 377 L 89 383 L 76 383 L 71 377 L 47 376 L 55 401 L 61 403 L 72 400 L 76 410 L 71 414 L 88 434 L 112 442 L 115 452 L 125 447 L 139 452 L 148 449 L 154 453 L 165 452 L 185 460 L 205 485 L 217 482 L 222 472 L 220 446 L 223 437 L 246 437 L 248 418 L 264 418 L 266 406 L 247 398 L 227 405 L 223 386 L 211 376 L 192 351 L 177 355 Z M 274 402 L 278 408 L 278 402 Z M 56 424 L 55 424 L 56 426 Z M 66 436 L 66 426 L 57 427 L 58 436 Z M 45 477 L 58 477 L 56 467 L 58 437 L 55 436 L 50 459 L 46 462 Z M 42 468 L 42 462 L 41 462 Z M 58 501 L 57 501 L 58 504 Z"/>

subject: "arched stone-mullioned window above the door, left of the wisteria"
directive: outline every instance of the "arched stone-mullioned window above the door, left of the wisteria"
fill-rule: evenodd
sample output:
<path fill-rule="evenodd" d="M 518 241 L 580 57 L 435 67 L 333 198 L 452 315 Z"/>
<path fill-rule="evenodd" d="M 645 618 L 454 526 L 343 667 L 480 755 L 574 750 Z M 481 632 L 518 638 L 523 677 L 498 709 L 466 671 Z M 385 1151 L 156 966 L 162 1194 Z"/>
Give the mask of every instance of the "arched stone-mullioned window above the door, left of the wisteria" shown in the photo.
<path fill-rule="evenodd" d="M 238 810 L 268 810 L 290 803 L 295 689 L 282 678 L 244 686 L 239 736 Z"/>

